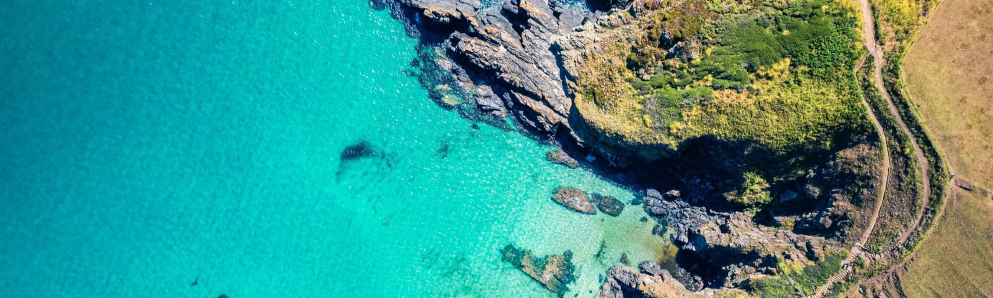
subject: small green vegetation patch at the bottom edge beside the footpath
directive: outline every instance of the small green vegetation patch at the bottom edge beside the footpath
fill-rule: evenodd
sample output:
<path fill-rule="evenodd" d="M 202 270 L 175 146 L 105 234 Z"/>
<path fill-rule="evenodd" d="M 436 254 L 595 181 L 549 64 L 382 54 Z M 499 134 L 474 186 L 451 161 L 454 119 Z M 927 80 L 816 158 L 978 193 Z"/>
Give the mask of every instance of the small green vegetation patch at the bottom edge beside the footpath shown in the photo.
<path fill-rule="evenodd" d="M 827 283 L 834 273 L 841 270 L 843 253 L 827 254 L 813 265 L 777 277 L 755 278 L 752 289 L 764 298 L 798 297 L 812 294 L 817 287 Z"/>

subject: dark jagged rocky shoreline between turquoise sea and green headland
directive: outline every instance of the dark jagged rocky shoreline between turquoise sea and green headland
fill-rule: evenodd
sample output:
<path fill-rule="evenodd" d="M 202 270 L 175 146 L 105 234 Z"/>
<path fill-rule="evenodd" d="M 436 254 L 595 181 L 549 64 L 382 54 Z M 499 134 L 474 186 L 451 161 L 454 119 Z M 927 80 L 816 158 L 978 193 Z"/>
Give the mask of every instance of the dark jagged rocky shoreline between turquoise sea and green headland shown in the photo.
<path fill-rule="evenodd" d="M 473 120 L 504 129 L 515 126 L 561 148 L 548 153 L 549 161 L 582 166 L 642 194 L 638 202 L 659 226 L 668 228 L 657 233 L 679 246 L 677 262 L 691 274 L 681 283 L 667 283 L 675 279 L 664 270 L 644 273 L 616 267 L 600 297 L 625 297 L 635 279 L 679 284 L 692 291 L 747 287 L 756 276 L 778 273 L 781 262 L 813 262 L 846 241 L 844 226 L 850 224 L 853 208 L 839 196 L 846 192 L 848 178 L 811 172 L 775 199 L 795 202 L 804 210 L 756 215 L 714 199 L 734 179 L 726 165 L 741 162 L 735 159 L 741 148 L 701 138 L 679 156 L 644 160 L 602 144 L 603 136 L 587 127 L 573 106 L 575 77 L 582 58 L 590 55 L 586 47 L 605 38 L 623 38 L 597 29 L 630 23 L 628 12 L 637 9 L 630 7 L 630 0 L 591 0 L 585 7 L 557 0 L 505 0 L 498 6 L 476 0 L 371 4 L 389 9 L 420 39 L 412 75 L 436 102 Z M 673 47 L 670 51 L 679 50 Z M 830 168 L 836 159 L 817 169 Z M 552 199 L 585 214 L 596 214 L 599 207 L 615 215 L 624 208 L 613 198 L 590 200 L 581 195 L 565 189 Z M 521 254 L 516 248 L 503 253 L 514 256 L 511 259 Z M 561 294 L 558 285 L 549 289 Z"/>

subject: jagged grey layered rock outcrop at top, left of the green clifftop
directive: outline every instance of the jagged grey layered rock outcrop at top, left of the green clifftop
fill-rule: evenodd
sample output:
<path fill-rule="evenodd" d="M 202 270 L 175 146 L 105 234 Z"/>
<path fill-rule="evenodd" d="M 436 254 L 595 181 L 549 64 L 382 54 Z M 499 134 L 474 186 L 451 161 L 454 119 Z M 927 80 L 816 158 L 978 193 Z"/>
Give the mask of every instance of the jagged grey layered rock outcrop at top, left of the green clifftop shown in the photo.
<path fill-rule="evenodd" d="M 390 8 L 424 46 L 443 50 L 442 61 L 452 63 L 431 65 L 453 77 L 441 87 L 461 89 L 451 93 L 471 95 L 466 99 L 480 112 L 509 115 L 539 138 L 553 138 L 560 126 L 568 130 L 572 100 L 553 45 L 593 12 L 555 0 L 507 0 L 486 8 L 476 0 L 373 1 Z"/>

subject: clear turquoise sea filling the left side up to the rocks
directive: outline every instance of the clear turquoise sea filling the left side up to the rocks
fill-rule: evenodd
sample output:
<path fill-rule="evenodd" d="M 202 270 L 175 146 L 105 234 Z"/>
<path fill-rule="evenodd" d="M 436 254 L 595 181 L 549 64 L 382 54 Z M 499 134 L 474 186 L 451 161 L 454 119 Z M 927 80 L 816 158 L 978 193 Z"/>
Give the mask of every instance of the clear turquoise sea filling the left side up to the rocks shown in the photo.
<path fill-rule="evenodd" d="M 551 296 L 514 243 L 590 297 L 665 256 L 639 207 L 549 200 L 629 192 L 433 103 L 415 44 L 364 0 L 0 5 L 0 296 Z"/>

